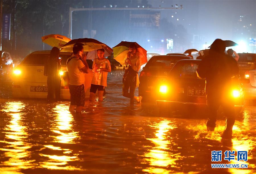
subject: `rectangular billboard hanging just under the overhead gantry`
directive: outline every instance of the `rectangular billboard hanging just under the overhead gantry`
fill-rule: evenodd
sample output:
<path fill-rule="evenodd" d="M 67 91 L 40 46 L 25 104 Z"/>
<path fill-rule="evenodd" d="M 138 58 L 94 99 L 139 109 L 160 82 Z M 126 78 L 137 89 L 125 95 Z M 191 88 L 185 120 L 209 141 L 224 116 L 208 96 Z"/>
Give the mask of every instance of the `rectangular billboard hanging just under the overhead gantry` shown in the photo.
<path fill-rule="evenodd" d="M 131 11 L 130 28 L 159 28 L 160 12 L 156 11 Z"/>

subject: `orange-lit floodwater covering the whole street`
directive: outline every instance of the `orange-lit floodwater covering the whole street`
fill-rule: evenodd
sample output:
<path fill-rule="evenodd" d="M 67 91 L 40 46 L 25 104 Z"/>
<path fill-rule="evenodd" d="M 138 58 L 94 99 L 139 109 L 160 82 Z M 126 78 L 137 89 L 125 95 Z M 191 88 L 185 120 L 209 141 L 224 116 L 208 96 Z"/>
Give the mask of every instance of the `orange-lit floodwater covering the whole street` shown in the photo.
<path fill-rule="evenodd" d="M 155 103 L 130 106 L 121 95 L 122 73 L 109 74 L 104 102 L 86 102 L 82 114 L 70 113 L 69 101 L 12 99 L 2 78 L 0 173 L 255 172 L 255 106 L 245 106 L 234 138 L 223 140 L 224 119 L 207 132 L 203 115 L 168 117 Z M 222 150 L 222 162 L 211 161 L 213 150 Z M 226 150 L 248 151 L 248 160 L 224 160 Z M 248 168 L 212 169 L 211 163 Z"/>

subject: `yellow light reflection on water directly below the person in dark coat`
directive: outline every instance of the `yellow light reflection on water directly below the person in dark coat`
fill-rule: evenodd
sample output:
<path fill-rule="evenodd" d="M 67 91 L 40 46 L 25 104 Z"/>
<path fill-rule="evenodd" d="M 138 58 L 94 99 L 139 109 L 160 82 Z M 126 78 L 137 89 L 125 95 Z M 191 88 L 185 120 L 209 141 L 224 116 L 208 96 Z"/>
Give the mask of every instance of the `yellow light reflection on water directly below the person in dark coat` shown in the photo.
<path fill-rule="evenodd" d="M 59 152 L 57 153 L 58 155 L 53 154 L 54 151 L 50 154 L 40 154 L 40 156 L 48 158 L 48 160 L 42 162 L 40 166 L 55 170 L 81 170 L 68 163 L 70 161 L 78 160 L 77 156 L 72 153 L 72 150 L 61 148 L 62 144 L 75 143 L 73 140 L 78 137 L 78 132 L 74 132 L 72 129 L 73 116 L 69 112 L 69 107 L 60 104 L 56 105 L 53 110 L 56 113 L 55 121 L 57 124 L 51 128 L 51 131 L 54 132 L 53 141 L 58 143 L 58 146 L 44 145 L 44 147 L 50 150 L 62 151 L 62 154 Z M 57 134 L 57 136 L 55 136 L 55 134 Z"/>

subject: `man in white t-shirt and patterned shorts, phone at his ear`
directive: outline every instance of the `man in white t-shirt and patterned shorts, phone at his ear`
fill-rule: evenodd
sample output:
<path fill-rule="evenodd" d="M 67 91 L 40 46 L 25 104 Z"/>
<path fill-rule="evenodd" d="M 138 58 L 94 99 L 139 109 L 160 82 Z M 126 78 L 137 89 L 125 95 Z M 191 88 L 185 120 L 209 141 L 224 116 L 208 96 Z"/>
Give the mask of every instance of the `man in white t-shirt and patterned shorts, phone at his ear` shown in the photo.
<path fill-rule="evenodd" d="M 73 47 L 74 55 L 67 60 L 67 72 L 69 75 L 70 106 L 69 111 L 81 112 L 85 103 L 84 81 L 88 73 L 86 55 L 82 45 Z"/>

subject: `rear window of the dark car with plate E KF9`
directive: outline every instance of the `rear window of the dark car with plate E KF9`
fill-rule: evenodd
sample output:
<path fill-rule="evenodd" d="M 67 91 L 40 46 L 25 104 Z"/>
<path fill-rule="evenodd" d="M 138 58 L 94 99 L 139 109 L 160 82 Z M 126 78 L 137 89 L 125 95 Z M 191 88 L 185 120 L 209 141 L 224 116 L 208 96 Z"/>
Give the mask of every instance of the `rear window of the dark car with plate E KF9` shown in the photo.
<path fill-rule="evenodd" d="M 199 79 L 197 77 L 197 67 L 198 64 L 196 63 L 179 64 L 172 69 L 170 74 L 173 74 L 177 78 Z"/>

